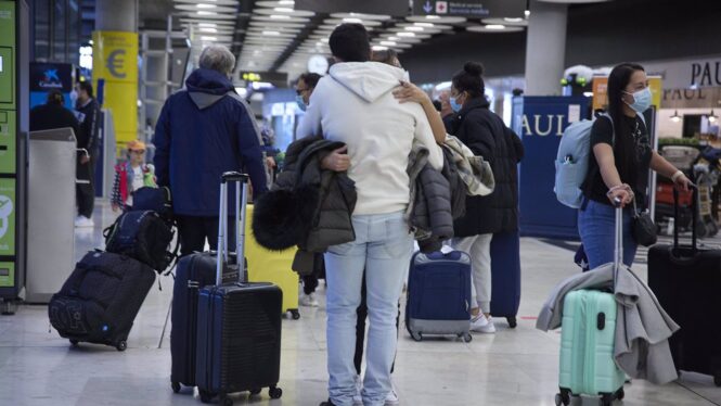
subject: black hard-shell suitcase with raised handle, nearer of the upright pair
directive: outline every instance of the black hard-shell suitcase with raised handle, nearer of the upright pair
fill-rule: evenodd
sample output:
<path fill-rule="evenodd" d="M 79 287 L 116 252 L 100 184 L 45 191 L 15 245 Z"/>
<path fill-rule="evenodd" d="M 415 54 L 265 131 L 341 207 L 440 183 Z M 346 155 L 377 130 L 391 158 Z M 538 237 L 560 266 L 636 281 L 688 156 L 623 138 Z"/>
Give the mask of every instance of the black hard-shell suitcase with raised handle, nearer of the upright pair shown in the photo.
<path fill-rule="evenodd" d="M 282 291 L 272 283 L 244 281 L 222 284 L 223 268 L 228 255 L 228 182 L 235 181 L 236 201 L 242 198 L 242 213 L 234 225 L 240 229 L 236 263 L 244 268 L 245 258 L 245 206 L 247 202 L 247 175 L 226 173 L 220 187 L 220 227 L 215 286 L 205 287 L 198 295 L 197 346 L 195 383 L 201 399 L 208 403 L 215 396 L 221 404 L 233 404 L 228 394 L 249 391 L 257 394 L 269 388 L 271 398 L 279 398 L 281 369 L 281 316 Z M 241 196 L 241 185 L 243 193 Z M 237 208 L 237 207 L 236 207 Z"/>

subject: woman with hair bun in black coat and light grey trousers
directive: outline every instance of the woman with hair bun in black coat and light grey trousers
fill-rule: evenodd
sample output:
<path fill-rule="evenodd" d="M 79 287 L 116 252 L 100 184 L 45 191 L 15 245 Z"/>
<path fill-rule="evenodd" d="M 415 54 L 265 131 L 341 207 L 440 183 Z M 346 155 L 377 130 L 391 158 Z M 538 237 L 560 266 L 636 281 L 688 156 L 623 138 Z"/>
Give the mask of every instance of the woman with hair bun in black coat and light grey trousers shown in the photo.
<path fill-rule="evenodd" d="M 449 134 L 458 137 L 493 169 L 495 189 L 487 196 L 468 196 L 466 214 L 455 220 L 453 248 L 467 252 L 473 267 L 473 331 L 493 333 L 490 318 L 491 239 L 495 232 L 518 229 L 518 172 L 524 155 L 518 136 L 488 110 L 482 65 L 466 62 L 453 76 L 450 104 L 453 115 L 446 120 Z"/>

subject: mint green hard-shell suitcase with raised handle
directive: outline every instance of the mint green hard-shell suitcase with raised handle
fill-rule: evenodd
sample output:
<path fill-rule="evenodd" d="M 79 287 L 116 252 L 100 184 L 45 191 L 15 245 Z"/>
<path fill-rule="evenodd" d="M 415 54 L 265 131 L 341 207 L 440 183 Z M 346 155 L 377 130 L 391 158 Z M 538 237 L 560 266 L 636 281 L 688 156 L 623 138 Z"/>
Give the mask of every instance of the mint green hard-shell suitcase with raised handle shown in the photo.
<path fill-rule="evenodd" d="M 614 284 L 623 266 L 623 208 L 616 208 Z M 593 270 L 591 270 L 593 271 Z M 571 395 L 601 396 L 602 406 L 622 399 L 626 373 L 616 365 L 614 346 L 617 304 L 613 292 L 578 290 L 564 299 L 556 406 Z"/>

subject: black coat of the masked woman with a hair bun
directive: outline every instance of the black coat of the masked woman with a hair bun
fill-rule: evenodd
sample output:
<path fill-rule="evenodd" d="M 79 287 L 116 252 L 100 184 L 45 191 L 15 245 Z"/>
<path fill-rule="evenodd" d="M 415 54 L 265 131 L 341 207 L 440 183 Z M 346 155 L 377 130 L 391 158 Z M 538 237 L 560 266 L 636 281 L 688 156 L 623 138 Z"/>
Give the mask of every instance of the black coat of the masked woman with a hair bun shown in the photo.
<path fill-rule="evenodd" d="M 501 117 L 488 110 L 485 98 L 468 101 L 446 120 L 458 137 L 493 169 L 495 190 L 487 196 L 466 198 L 466 214 L 454 223 L 455 237 L 471 237 L 518 229 L 518 170 L 524 145 Z"/>

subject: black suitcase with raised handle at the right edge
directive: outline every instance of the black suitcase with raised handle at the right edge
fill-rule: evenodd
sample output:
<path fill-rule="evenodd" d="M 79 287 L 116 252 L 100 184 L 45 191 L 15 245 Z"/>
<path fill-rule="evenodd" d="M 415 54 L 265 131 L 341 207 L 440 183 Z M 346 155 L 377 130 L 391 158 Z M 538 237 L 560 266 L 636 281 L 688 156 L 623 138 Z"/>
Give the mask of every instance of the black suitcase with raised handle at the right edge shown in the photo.
<path fill-rule="evenodd" d="M 674 190 L 678 203 L 678 192 Z M 692 244 L 657 244 L 648 250 L 648 286 L 659 303 L 681 326 L 670 340 L 675 368 L 713 377 L 721 386 L 721 250 L 698 248 L 694 191 Z M 678 204 L 675 205 L 678 218 Z"/>

